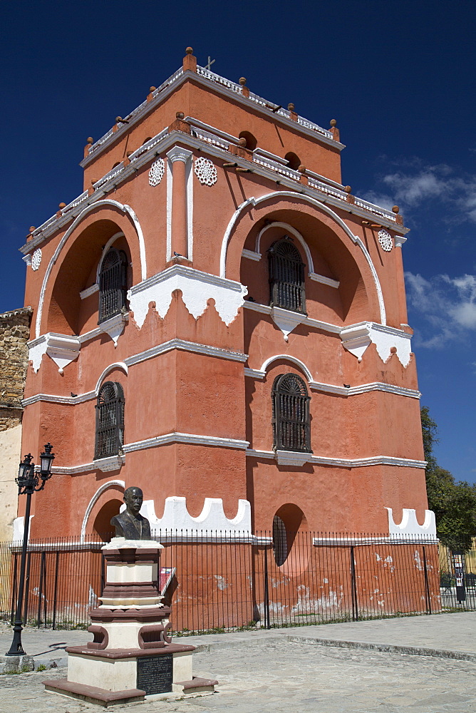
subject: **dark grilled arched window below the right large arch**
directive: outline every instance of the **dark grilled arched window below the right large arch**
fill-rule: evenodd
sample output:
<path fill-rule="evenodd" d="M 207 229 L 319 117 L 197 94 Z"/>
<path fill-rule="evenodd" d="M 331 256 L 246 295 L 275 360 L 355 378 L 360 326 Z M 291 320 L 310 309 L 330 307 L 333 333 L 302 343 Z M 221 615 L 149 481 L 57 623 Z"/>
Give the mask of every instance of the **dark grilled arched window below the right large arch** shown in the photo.
<path fill-rule="evenodd" d="M 311 451 L 311 424 L 306 384 L 297 374 L 279 374 L 273 391 L 273 448 L 275 451 Z"/>

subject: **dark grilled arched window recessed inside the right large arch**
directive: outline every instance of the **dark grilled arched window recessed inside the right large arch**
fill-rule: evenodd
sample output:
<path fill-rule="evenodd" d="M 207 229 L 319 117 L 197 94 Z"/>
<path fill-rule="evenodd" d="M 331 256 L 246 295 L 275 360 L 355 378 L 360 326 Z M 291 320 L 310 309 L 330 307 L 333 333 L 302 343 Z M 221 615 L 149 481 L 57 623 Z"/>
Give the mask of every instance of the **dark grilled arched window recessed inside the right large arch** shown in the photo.
<path fill-rule="evenodd" d="M 306 314 L 304 262 L 289 235 L 271 245 L 269 261 L 269 304 Z"/>

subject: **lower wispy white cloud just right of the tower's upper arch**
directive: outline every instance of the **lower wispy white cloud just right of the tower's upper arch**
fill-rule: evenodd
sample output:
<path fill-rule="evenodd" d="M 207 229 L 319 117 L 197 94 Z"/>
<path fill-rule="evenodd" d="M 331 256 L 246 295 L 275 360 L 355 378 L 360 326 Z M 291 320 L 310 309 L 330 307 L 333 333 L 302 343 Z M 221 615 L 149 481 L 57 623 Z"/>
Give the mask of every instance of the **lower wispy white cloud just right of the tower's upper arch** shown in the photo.
<path fill-rule="evenodd" d="M 408 302 L 427 326 L 418 334 L 420 347 L 444 347 L 476 331 L 476 276 L 422 275 L 405 272 Z M 430 334 L 427 334 L 427 333 Z"/>

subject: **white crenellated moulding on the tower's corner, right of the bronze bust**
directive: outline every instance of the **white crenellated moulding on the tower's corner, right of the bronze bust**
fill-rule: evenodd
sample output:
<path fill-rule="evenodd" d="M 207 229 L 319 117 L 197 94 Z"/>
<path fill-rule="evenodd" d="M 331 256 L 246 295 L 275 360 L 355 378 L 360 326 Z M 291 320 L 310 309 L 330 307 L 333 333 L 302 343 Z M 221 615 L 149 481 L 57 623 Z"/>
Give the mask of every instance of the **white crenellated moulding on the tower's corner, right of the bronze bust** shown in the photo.
<path fill-rule="evenodd" d="M 207 535 L 244 535 L 252 531 L 252 511 L 247 500 L 238 501 L 237 515 L 229 520 L 223 511 L 222 498 L 205 498 L 200 515 L 192 518 L 187 511 L 187 498 L 165 498 L 164 513 L 157 518 L 153 500 L 146 500 L 140 513 L 148 518 L 150 529 L 158 530 L 193 530 Z"/>

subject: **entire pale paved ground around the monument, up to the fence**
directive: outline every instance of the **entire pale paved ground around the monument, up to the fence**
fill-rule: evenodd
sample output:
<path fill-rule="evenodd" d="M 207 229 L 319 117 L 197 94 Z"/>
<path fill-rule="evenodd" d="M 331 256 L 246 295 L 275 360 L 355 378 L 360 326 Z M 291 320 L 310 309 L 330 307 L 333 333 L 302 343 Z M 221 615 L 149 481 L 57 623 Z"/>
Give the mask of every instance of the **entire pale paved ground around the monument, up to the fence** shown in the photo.
<path fill-rule="evenodd" d="M 62 642 L 87 640 L 88 632 L 27 629 L 24 646 L 44 658 L 44 652 L 58 655 Z M 218 679 L 218 692 L 120 705 L 114 707 L 115 713 L 476 711 L 476 613 L 472 612 L 181 640 L 198 645 L 194 674 Z M 10 642 L 10 632 L 2 630 L 3 650 Z M 412 653 L 405 653 L 408 650 Z M 43 679 L 65 675 L 66 670 L 59 668 L 0 676 L 1 713 L 98 712 L 100 708 L 91 704 L 44 692 Z"/>

